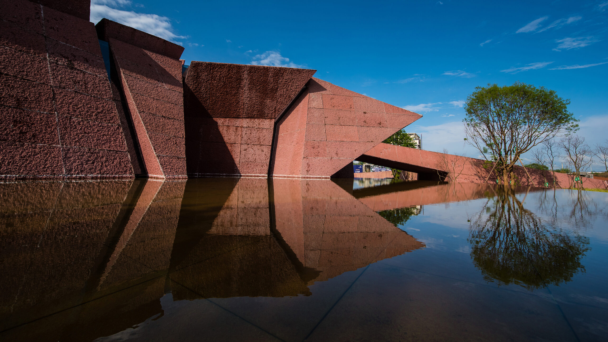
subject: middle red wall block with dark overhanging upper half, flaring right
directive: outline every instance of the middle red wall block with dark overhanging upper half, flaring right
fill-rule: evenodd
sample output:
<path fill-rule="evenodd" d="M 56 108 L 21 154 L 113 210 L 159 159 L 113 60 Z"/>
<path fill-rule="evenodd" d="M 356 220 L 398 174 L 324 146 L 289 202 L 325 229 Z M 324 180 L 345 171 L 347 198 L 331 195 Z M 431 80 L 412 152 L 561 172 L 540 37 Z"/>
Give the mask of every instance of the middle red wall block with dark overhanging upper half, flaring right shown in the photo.
<path fill-rule="evenodd" d="M 188 175 L 267 175 L 275 119 L 314 72 L 193 62 L 184 85 Z"/>

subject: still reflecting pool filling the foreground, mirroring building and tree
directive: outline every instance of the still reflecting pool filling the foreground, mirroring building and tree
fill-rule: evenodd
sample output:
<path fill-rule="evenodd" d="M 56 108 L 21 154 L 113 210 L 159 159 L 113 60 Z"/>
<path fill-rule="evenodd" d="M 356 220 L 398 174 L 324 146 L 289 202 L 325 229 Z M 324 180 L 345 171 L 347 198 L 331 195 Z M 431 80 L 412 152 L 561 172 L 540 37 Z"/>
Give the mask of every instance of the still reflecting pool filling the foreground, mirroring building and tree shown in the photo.
<path fill-rule="evenodd" d="M 0 184 L 2 341 L 606 341 L 608 194 Z"/>

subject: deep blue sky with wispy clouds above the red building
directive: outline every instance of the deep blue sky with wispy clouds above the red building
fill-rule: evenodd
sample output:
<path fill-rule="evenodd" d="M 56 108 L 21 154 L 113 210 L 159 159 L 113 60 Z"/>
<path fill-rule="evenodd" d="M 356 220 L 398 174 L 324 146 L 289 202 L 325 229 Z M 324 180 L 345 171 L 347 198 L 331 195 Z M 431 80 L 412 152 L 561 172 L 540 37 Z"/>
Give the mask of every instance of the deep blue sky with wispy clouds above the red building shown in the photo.
<path fill-rule="evenodd" d="M 137 0 L 136 0 L 137 1 Z M 316 69 L 315 77 L 423 114 L 423 148 L 463 144 L 475 86 L 521 81 L 570 99 L 591 145 L 608 138 L 608 0 L 93 0 L 108 18 L 185 47 L 184 58 Z"/>

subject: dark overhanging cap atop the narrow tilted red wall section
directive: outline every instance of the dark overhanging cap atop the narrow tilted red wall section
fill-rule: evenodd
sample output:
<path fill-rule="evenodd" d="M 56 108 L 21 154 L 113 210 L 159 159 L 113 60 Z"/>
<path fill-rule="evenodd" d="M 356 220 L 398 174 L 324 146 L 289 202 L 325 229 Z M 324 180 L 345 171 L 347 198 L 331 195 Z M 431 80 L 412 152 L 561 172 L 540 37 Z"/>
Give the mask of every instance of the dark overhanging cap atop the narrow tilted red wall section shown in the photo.
<path fill-rule="evenodd" d="M 179 60 L 184 52 L 183 46 L 106 18 L 101 19 L 95 29 L 100 40 L 109 41 L 113 38 L 176 60 Z"/>

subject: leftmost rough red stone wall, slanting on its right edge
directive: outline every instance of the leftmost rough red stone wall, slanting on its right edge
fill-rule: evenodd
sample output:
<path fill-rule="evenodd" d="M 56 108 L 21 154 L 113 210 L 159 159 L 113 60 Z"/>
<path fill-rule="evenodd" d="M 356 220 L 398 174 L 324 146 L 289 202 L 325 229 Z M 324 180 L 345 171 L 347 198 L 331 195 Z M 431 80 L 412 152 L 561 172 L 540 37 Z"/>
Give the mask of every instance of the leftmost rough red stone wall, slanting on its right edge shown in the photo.
<path fill-rule="evenodd" d="M 1 2 L 0 177 L 133 176 L 89 2 L 40 3 Z"/>

